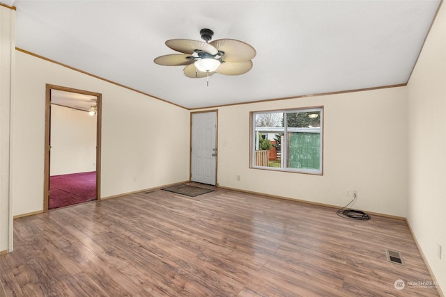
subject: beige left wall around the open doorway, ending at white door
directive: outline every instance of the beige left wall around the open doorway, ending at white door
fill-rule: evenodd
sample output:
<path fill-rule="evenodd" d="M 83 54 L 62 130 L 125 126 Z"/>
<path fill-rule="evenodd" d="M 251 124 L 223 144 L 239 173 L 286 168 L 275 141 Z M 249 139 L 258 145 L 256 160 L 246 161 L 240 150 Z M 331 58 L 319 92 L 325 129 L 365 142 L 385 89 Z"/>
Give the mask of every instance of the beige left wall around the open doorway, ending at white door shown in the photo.
<path fill-rule="evenodd" d="M 46 83 L 102 94 L 102 198 L 189 179 L 189 111 L 21 51 L 16 64 L 14 215 L 43 209 Z"/>

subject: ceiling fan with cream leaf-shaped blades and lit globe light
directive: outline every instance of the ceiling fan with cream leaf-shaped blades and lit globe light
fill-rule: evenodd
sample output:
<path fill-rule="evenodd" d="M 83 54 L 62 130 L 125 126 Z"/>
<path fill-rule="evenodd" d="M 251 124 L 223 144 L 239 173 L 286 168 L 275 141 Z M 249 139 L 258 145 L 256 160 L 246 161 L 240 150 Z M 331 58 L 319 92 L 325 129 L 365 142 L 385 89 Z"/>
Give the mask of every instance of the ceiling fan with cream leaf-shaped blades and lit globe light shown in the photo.
<path fill-rule="evenodd" d="M 215 73 L 240 75 L 252 68 L 252 58 L 256 50 L 247 43 L 235 39 L 219 39 L 210 42 L 214 32 L 201 29 L 201 38 L 205 41 L 190 39 L 171 39 L 167 47 L 183 54 L 159 56 L 153 60 L 158 65 L 181 66 L 186 77 L 209 77 Z"/>

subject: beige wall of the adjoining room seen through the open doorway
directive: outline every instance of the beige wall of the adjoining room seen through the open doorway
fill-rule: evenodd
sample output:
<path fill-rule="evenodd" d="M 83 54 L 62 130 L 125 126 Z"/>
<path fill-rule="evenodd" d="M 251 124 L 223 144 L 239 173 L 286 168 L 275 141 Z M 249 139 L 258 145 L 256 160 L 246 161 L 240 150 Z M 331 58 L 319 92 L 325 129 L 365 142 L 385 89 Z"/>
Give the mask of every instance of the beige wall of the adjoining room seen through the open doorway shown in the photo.
<path fill-rule="evenodd" d="M 52 104 L 49 175 L 96 170 L 96 118 Z"/>

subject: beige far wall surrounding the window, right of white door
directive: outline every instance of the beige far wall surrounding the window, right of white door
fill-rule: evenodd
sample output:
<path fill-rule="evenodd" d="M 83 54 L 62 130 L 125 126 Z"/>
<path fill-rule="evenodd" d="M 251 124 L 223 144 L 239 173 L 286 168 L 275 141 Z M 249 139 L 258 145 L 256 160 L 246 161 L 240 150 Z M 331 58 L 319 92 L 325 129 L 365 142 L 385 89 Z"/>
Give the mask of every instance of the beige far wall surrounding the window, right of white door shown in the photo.
<path fill-rule="evenodd" d="M 285 198 L 406 216 L 406 88 L 218 109 L 218 184 Z M 249 112 L 324 106 L 323 176 L 249 169 Z M 240 181 L 236 180 L 240 175 Z"/>

